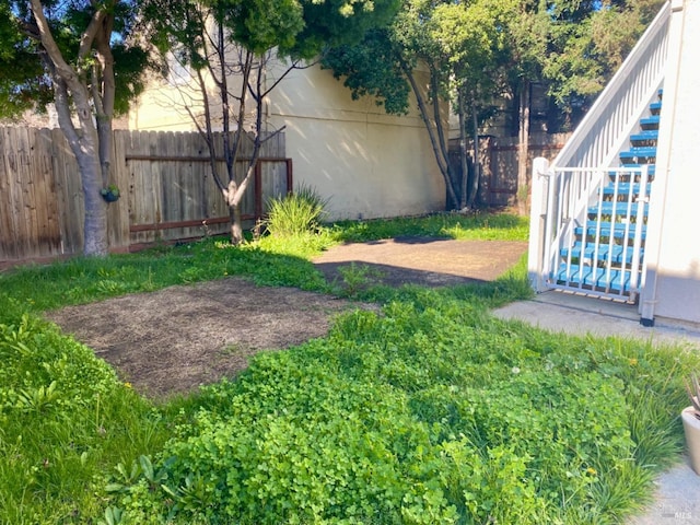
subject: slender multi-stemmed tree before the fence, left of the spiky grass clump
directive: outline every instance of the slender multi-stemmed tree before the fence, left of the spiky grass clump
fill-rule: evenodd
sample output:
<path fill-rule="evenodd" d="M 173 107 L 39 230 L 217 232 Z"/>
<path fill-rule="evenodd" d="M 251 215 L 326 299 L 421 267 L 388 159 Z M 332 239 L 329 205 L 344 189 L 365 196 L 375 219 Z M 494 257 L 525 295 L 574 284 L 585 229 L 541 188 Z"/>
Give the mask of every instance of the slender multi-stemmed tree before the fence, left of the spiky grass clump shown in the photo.
<path fill-rule="evenodd" d="M 183 84 L 186 108 L 205 137 L 211 174 L 230 210 L 231 242 L 243 241 L 241 202 L 268 130 L 265 100 L 290 71 L 314 63 L 327 46 L 359 42 L 390 20 L 396 0 L 151 0 L 154 42 L 191 71 Z M 221 144 L 214 128 L 223 131 Z M 236 177 L 240 144 L 252 141 L 245 175 Z M 225 173 L 214 162 L 223 155 Z"/>

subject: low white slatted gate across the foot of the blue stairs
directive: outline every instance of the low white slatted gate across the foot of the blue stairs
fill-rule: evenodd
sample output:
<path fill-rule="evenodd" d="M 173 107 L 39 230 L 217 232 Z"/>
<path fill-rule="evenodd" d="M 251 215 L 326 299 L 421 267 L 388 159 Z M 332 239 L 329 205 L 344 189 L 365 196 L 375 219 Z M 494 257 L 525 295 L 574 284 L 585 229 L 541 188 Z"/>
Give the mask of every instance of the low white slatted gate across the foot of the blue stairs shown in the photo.
<path fill-rule="evenodd" d="M 540 276 L 541 283 L 632 301 L 643 279 L 649 166 L 547 173 L 544 235 L 551 242 L 545 244 L 542 267 L 549 271 Z M 576 217 L 582 200 L 586 213 Z"/>

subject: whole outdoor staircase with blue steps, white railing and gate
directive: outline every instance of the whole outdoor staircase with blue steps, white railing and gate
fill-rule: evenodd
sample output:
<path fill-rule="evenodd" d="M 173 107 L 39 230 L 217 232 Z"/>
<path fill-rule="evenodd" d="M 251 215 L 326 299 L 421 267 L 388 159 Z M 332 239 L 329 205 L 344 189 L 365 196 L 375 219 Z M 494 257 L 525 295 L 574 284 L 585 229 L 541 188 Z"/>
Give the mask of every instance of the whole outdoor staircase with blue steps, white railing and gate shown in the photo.
<path fill-rule="evenodd" d="M 630 303 L 642 293 L 670 14 L 667 2 L 557 158 L 533 162 L 527 264 L 536 292 Z"/>

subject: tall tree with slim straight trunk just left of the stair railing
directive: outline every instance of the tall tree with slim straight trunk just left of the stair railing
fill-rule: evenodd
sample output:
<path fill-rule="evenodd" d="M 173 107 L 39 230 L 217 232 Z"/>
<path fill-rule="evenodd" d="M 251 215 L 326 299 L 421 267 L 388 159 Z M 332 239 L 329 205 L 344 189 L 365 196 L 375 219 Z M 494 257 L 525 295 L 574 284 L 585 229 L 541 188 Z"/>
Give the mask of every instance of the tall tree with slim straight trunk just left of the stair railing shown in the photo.
<path fill-rule="evenodd" d="M 527 213 L 532 82 L 548 94 L 571 129 L 620 67 L 663 1 L 521 2 L 509 24 L 510 92 L 518 103 L 517 206 Z M 578 115 L 574 115 L 578 113 Z"/>

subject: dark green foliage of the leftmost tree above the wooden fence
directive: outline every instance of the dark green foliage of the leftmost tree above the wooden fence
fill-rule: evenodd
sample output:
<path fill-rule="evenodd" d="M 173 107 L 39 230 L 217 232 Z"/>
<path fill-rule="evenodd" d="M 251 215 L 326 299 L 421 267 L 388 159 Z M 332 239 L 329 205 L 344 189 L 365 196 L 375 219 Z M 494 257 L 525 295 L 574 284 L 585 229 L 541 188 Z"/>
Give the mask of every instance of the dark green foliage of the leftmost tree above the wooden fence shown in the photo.
<path fill-rule="evenodd" d="M 145 51 L 129 39 L 136 10 L 135 3 L 120 0 L 0 0 L 0 118 L 42 112 L 54 102 L 49 66 L 54 60 L 42 42 L 42 31 L 50 34 L 56 50 L 80 81 L 97 93 L 104 79 L 91 68 L 100 60 L 97 47 L 107 45 L 115 72 L 114 112 L 126 114 L 129 101 L 143 90 L 141 73 L 147 65 Z M 46 21 L 44 30 L 34 16 L 39 11 Z"/>

